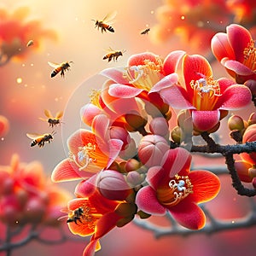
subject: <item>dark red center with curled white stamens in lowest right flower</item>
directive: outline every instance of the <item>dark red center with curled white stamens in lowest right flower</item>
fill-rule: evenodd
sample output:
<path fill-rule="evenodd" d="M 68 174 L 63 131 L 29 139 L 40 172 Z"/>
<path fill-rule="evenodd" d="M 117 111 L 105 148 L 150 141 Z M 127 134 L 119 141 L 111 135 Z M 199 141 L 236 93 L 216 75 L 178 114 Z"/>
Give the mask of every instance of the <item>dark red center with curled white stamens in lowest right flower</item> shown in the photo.
<path fill-rule="evenodd" d="M 174 207 L 190 193 L 193 193 L 192 188 L 193 185 L 188 176 L 175 175 L 168 186 L 157 190 L 157 198 L 161 204 Z"/>

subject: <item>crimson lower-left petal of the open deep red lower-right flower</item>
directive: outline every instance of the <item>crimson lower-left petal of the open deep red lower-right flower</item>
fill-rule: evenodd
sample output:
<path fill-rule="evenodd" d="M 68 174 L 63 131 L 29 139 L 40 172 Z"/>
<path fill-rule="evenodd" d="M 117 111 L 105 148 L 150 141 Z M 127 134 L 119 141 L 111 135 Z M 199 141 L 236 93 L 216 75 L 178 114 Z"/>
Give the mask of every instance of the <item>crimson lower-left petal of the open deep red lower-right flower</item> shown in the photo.
<path fill-rule="evenodd" d="M 154 189 L 149 186 L 143 187 L 137 192 L 135 203 L 140 210 L 148 214 L 164 215 L 166 213 L 166 208 L 160 205 Z"/>

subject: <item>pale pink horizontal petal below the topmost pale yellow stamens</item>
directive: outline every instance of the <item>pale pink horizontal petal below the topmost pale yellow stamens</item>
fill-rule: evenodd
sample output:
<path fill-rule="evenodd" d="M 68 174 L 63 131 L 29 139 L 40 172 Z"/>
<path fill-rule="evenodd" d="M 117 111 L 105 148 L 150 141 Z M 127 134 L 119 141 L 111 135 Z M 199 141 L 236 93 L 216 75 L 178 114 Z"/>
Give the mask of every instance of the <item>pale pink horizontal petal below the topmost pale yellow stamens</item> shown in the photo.
<path fill-rule="evenodd" d="M 125 84 L 111 84 L 109 86 L 109 95 L 119 98 L 132 98 L 143 92 L 143 89 L 137 89 Z"/>

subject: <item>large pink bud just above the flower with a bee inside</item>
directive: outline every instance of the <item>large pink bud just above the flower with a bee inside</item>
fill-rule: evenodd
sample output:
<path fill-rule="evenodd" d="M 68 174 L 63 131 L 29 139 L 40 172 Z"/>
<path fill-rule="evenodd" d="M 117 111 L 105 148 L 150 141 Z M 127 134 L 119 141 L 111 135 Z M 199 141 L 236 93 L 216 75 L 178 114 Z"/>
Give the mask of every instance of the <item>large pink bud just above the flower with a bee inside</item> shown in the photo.
<path fill-rule="evenodd" d="M 125 176 L 113 170 L 100 172 L 96 184 L 101 194 L 110 200 L 123 201 L 132 192 Z"/>

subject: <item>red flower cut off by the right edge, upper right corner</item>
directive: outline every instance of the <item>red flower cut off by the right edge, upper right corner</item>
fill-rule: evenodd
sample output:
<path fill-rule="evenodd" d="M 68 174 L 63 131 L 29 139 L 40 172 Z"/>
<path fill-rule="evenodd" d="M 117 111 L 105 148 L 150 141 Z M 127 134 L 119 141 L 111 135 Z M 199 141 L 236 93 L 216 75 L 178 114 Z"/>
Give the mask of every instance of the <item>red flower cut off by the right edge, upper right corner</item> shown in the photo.
<path fill-rule="evenodd" d="M 226 33 L 218 32 L 212 38 L 212 53 L 237 83 L 255 80 L 256 49 L 250 32 L 236 24 L 227 26 L 226 30 Z"/>

